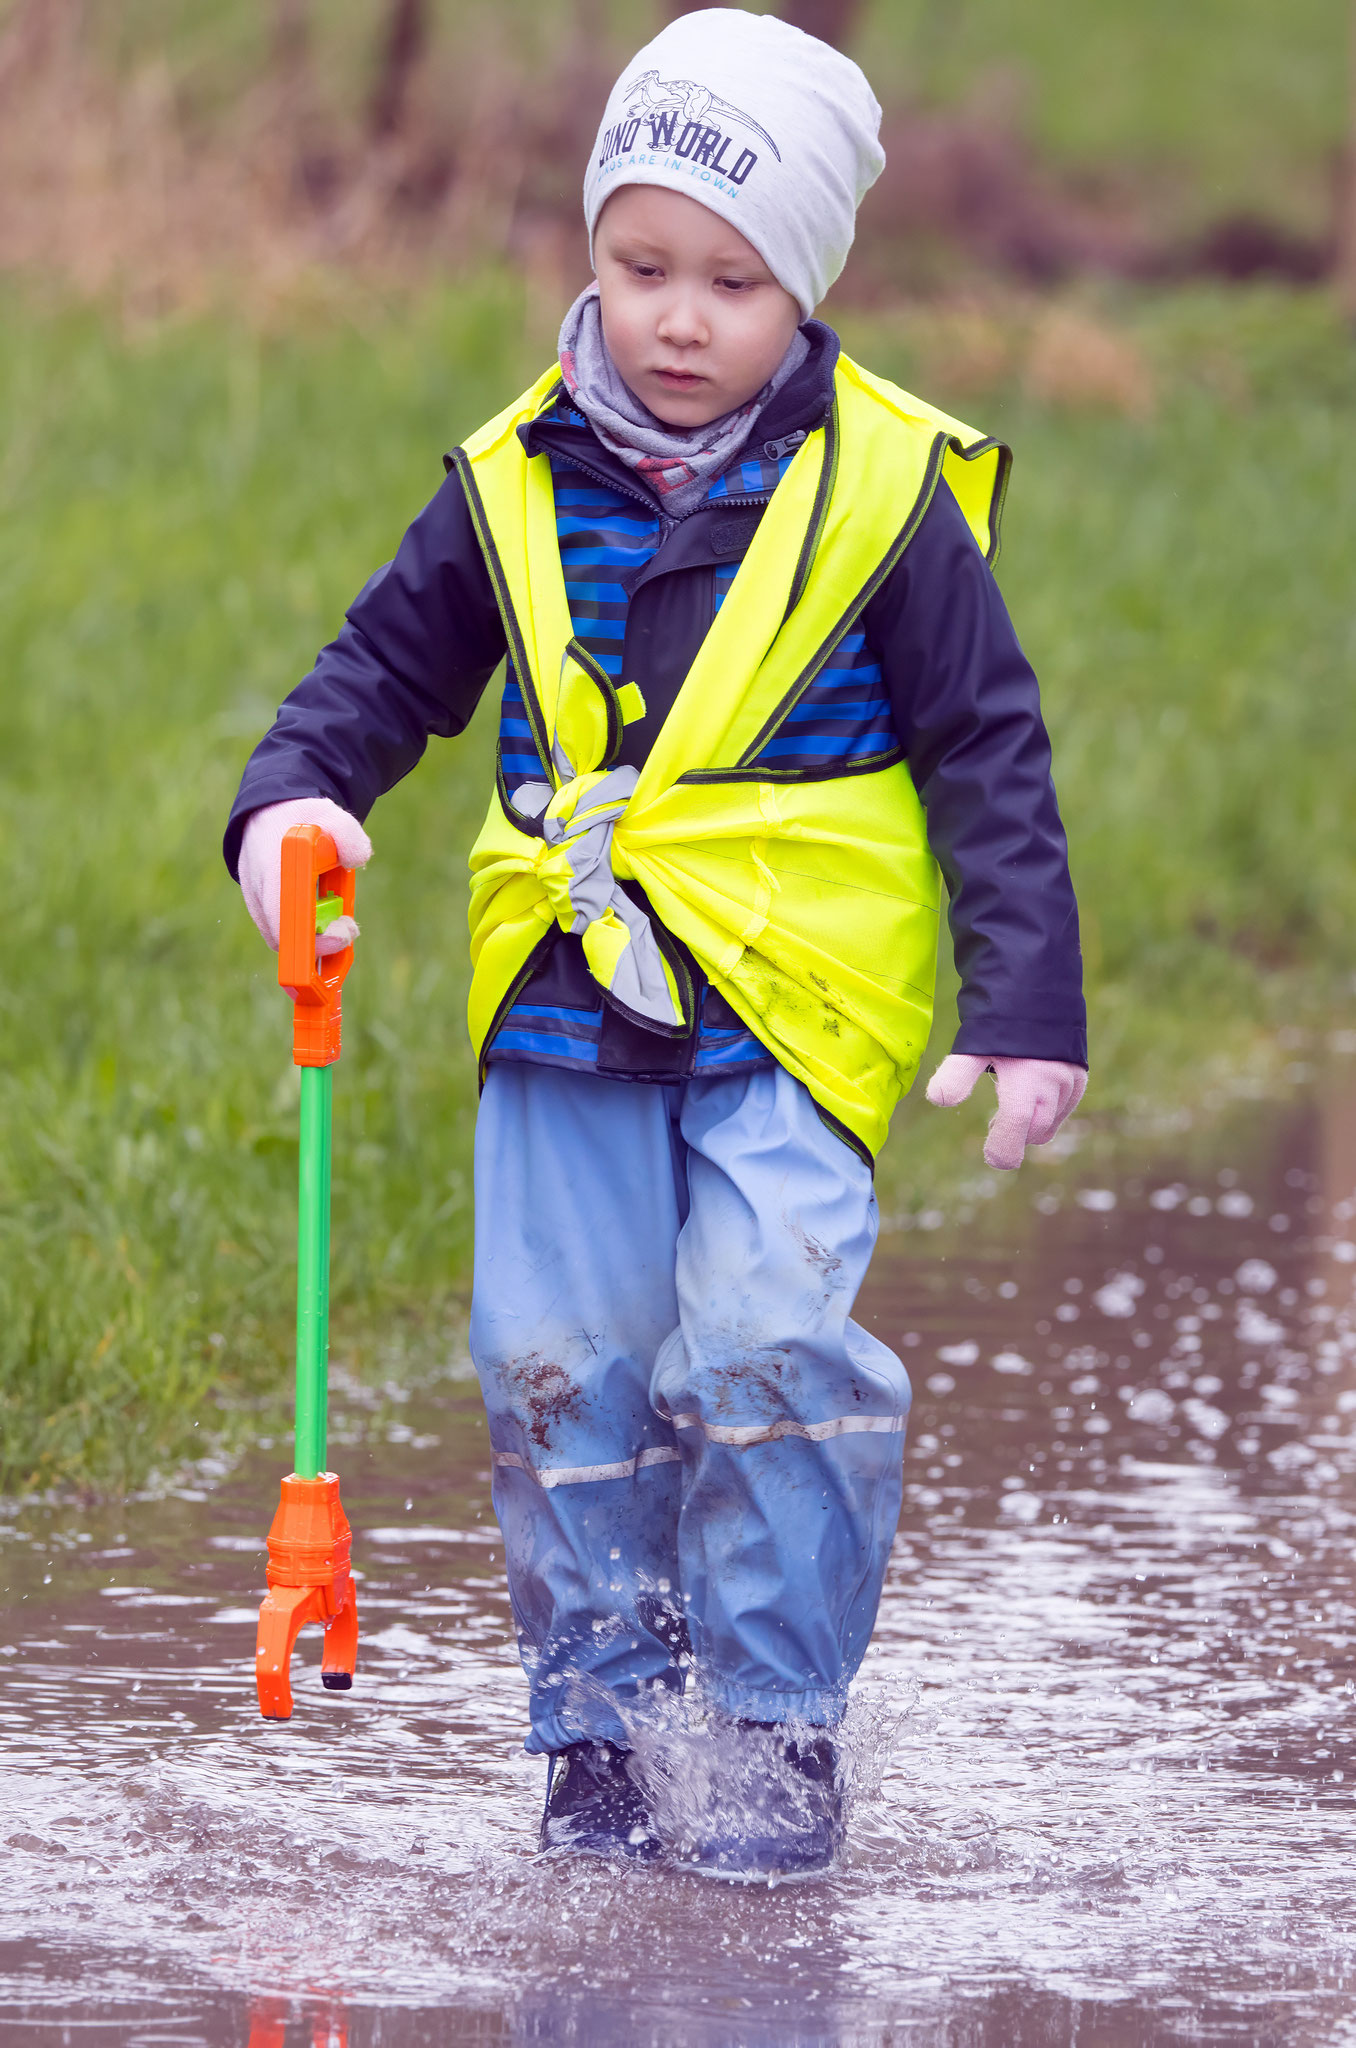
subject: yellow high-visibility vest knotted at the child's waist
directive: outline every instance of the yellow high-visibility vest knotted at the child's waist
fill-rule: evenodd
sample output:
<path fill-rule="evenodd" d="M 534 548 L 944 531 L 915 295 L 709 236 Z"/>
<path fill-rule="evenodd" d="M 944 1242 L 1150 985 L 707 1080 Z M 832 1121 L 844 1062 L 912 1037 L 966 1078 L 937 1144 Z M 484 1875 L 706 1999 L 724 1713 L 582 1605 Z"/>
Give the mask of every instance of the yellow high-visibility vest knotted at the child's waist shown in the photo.
<path fill-rule="evenodd" d="M 457 449 L 551 776 L 524 797 L 500 770 L 471 850 L 469 1024 L 483 1061 L 561 924 L 582 934 L 606 997 L 651 1028 L 686 1028 L 682 958 L 610 887 L 633 879 L 821 1114 L 875 1157 L 932 1024 L 940 874 L 924 811 L 899 750 L 828 774 L 754 762 L 903 555 L 938 477 L 993 559 L 1010 455 L 846 356 L 834 385 L 639 774 L 612 770 L 635 686 L 612 684 L 574 637 L 551 465 L 518 438 L 559 373 Z"/>

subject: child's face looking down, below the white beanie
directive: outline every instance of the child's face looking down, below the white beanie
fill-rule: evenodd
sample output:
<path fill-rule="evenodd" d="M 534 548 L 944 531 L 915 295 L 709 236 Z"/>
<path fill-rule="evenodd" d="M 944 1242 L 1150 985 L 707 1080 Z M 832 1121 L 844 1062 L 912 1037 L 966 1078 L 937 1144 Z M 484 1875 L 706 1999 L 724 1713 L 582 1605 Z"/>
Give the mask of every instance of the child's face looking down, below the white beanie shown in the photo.
<path fill-rule="evenodd" d="M 705 426 L 760 391 L 801 324 L 752 244 L 696 199 L 612 193 L 594 229 L 602 334 L 668 426 Z"/>

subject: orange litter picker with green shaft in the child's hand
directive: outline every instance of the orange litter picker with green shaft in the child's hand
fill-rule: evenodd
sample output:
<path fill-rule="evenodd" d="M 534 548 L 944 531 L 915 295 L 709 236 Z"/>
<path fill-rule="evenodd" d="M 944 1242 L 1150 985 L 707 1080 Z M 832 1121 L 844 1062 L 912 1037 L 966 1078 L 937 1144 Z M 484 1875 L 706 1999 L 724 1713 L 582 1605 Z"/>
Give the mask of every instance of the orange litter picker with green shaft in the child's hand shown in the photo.
<path fill-rule="evenodd" d="M 338 864 L 320 825 L 283 840 L 279 983 L 293 999 L 293 1061 L 301 1067 L 297 1174 L 297 1450 L 268 1530 L 268 1593 L 258 1610 L 258 1710 L 289 1720 L 289 1665 L 307 1622 L 326 1630 L 322 1683 L 348 1692 L 358 1657 L 358 1606 L 348 1565 L 352 1532 L 326 1470 L 330 1393 L 330 1102 L 340 1055 L 340 989 L 352 946 L 315 958 L 315 936 L 352 915 L 354 870 Z"/>

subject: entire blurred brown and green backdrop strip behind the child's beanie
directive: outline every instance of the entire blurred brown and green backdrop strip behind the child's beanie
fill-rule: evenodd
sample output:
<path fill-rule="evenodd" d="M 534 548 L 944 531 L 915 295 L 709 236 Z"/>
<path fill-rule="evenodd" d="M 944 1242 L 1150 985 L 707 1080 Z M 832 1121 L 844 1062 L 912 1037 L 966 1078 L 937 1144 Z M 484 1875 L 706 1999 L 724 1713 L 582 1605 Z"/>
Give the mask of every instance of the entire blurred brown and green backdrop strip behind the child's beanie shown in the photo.
<path fill-rule="evenodd" d="M 508 256 L 545 330 L 584 262 L 598 109 L 664 8 L 418 0 L 401 45 L 395 6 L 0 0 L 0 272 L 127 324 L 250 305 L 285 326 L 326 264 L 418 291 Z M 838 8 L 885 106 L 862 301 L 1331 266 L 1350 0 Z"/>

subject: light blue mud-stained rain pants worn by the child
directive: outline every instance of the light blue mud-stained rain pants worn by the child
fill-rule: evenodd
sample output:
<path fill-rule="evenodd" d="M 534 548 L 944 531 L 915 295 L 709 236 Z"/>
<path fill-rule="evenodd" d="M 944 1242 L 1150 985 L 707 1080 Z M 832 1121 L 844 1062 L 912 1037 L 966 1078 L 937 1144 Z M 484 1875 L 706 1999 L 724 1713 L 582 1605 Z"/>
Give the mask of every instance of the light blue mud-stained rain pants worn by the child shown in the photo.
<path fill-rule="evenodd" d="M 909 1380 L 850 1319 L 871 1174 L 785 1069 L 490 1067 L 471 1356 L 533 1751 L 682 1688 L 832 1726 L 899 1516 Z"/>

